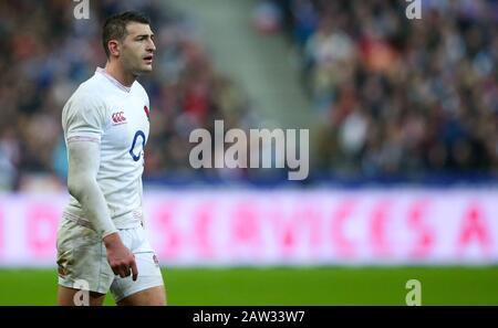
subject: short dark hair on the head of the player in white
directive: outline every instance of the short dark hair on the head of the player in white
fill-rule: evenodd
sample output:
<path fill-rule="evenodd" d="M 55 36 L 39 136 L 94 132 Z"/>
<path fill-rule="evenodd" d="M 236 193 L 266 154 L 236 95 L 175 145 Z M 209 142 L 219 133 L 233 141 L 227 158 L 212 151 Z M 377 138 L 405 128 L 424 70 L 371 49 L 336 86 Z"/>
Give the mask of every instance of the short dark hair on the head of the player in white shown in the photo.
<path fill-rule="evenodd" d="M 126 36 L 126 25 L 132 22 L 151 24 L 151 20 L 147 17 L 136 11 L 125 11 L 114 14 L 105 20 L 102 32 L 102 43 L 107 59 L 111 55 L 107 47 L 108 42 L 113 39 L 122 41 Z"/>

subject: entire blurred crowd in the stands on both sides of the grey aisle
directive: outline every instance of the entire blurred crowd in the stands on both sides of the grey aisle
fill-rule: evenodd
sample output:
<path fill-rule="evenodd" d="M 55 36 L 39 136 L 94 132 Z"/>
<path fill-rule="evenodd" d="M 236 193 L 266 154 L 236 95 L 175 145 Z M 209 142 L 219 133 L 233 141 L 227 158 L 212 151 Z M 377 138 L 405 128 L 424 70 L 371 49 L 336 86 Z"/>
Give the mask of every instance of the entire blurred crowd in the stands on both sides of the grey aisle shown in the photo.
<path fill-rule="evenodd" d="M 126 2 L 126 7 L 124 3 Z M 300 54 L 318 124 L 311 172 L 396 176 L 498 169 L 498 1 L 264 0 L 258 28 L 283 27 Z M 258 126 L 243 87 L 220 74 L 195 20 L 164 1 L 0 1 L 0 190 L 61 188 L 61 110 L 105 65 L 101 28 L 124 9 L 147 14 L 158 47 L 145 177 L 250 174 L 194 170 L 194 128 Z M 38 183 L 38 177 L 41 177 Z M 52 183 L 52 184 L 51 184 Z"/>

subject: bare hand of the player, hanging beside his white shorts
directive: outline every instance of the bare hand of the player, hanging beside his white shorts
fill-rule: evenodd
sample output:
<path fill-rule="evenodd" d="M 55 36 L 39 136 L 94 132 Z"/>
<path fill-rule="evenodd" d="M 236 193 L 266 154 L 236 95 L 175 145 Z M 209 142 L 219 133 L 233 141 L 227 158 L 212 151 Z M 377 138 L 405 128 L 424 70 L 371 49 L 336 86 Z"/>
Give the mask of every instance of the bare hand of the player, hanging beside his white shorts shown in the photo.
<path fill-rule="evenodd" d="M 138 277 L 138 269 L 135 263 L 135 255 L 123 244 L 117 232 L 104 237 L 104 245 L 107 250 L 107 262 L 115 275 L 124 278 L 133 274 L 133 281 Z"/>

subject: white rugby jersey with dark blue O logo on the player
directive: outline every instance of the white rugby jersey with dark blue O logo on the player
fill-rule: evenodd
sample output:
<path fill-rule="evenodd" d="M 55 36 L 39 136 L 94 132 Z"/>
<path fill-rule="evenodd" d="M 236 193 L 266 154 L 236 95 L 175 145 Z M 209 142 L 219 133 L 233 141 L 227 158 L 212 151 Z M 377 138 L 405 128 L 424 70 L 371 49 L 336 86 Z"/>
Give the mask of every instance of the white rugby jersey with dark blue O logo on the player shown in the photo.
<path fill-rule="evenodd" d="M 95 74 L 74 92 L 62 112 L 66 145 L 75 139 L 100 142 L 96 181 L 117 229 L 133 228 L 142 221 L 148 108 L 147 93 L 137 81 L 125 87 L 104 68 L 97 67 Z M 73 197 L 64 215 L 89 221 Z"/>

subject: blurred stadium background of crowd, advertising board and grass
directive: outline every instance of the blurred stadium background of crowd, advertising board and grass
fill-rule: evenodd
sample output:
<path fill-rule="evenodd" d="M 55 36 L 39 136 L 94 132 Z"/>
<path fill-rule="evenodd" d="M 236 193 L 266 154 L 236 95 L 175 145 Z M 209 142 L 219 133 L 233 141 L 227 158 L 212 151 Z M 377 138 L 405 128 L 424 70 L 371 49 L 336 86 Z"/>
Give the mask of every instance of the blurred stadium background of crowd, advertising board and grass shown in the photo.
<path fill-rule="evenodd" d="M 144 181 L 169 304 L 404 305 L 409 279 L 424 305 L 498 304 L 496 1 L 75 6 L 0 3 L 0 304 L 55 303 L 61 109 L 123 9 L 157 35 Z M 309 178 L 191 169 L 215 119 L 310 129 Z"/>

